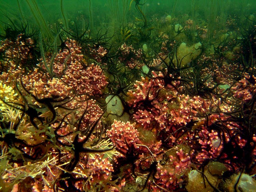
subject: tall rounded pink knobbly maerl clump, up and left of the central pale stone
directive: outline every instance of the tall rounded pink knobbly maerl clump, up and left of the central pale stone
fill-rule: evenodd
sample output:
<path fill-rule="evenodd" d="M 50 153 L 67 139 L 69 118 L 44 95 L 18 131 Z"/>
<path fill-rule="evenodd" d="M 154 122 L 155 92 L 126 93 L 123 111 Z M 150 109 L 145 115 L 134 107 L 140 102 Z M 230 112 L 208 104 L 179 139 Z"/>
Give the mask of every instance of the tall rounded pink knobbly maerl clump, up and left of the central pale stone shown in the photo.
<path fill-rule="evenodd" d="M 100 66 L 82 64 L 81 47 L 76 44 L 75 40 L 67 40 L 65 45 L 66 48 L 55 57 L 53 72 L 73 87 L 77 94 L 101 94 L 108 82 Z"/>

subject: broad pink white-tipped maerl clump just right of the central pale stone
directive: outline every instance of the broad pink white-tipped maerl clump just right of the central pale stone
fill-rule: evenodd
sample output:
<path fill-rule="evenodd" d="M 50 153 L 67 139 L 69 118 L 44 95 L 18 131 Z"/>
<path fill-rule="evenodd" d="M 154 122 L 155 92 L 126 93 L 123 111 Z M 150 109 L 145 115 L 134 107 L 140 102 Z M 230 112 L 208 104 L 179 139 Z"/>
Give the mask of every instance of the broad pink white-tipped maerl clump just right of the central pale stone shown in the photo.
<path fill-rule="evenodd" d="M 152 129 L 152 122 L 157 122 L 159 132 L 168 132 L 176 131 L 177 127 L 185 126 L 191 120 L 198 120 L 197 113 L 204 110 L 205 101 L 199 96 L 190 98 L 178 94 L 182 89 L 180 81 L 173 80 L 171 85 L 165 85 L 161 72 L 152 74 L 152 79 L 142 77 L 141 81 L 136 81 L 134 89 L 129 90 L 131 99 L 128 103 L 138 109 L 133 115 L 136 121 L 149 129 Z"/>

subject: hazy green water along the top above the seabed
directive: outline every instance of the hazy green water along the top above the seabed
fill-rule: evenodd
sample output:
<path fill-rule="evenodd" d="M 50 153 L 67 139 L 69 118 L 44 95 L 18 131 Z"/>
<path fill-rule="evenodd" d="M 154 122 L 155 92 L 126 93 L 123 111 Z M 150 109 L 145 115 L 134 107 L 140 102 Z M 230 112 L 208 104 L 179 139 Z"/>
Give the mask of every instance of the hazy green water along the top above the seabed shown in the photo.
<path fill-rule="evenodd" d="M 202 19 L 213 22 L 217 16 L 221 16 L 218 25 L 222 25 L 228 15 L 248 16 L 256 13 L 254 0 L 140 0 L 139 3 L 146 18 L 164 18 L 167 15 L 179 18 L 187 15 L 196 22 Z M 143 19 L 135 8 L 135 1 L 131 0 L 2 0 L 0 7 L 1 33 L 10 20 L 19 23 L 25 19 L 30 27 L 39 26 L 41 31 L 47 33 L 54 31 L 54 27 L 49 29 L 48 25 L 51 28 L 55 22 L 69 27 L 77 20 L 83 21 L 93 32 L 103 27 L 120 28 L 127 22 Z"/>

